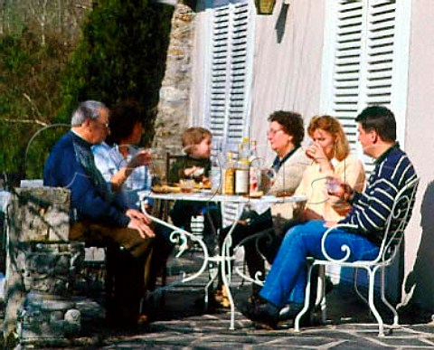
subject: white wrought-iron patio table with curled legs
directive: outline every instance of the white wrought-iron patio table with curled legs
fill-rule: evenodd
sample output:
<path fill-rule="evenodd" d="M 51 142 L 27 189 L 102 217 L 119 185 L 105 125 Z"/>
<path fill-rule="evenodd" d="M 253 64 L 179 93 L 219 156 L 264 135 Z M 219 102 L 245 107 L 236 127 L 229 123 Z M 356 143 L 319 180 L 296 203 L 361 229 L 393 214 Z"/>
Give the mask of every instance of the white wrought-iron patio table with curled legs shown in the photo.
<path fill-rule="evenodd" d="M 201 268 L 189 276 L 184 276 L 183 279 L 178 283 L 184 283 L 193 279 L 196 279 L 199 277 L 203 271 L 206 269 L 208 264 L 210 262 L 221 264 L 221 273 L 222 273 L 222 283 L 223 286 L 226 288 L 227 294 L 228 294 L 228 300 L 230 302 L 231 307 L 231 325 L 230 329 L 235 329 L 234 322 L 235 322 L 235 306 L 233 302 L 233 298 L 231 295 L 231 269 L 229 269 L 229 262 L 231 260 L 234 260 L 234 257 L 231 256 L 231 244 L 232 244 L 232 238 L 231 233 L 234 230 L 236 223 L 240 219 L 241 213 L 244 209 L 244 207 L 247 204 L 250 204 L 252 207 L 255 207 L 255 204 L 273 204 L 273 203 L 306 203 L 307 198 L 306 196 L 284 196 L 284 197 L 277 197 L 274 195 L 263 195 L 260 198 L 251 198 L 249 196 L 244 195 L 226 195 L 226 194 L 213 194 L 210 190 L 203 190 L 201 192 L 193 192 L 193 193 L 168 193 L 168 194 L 161 194 L 161 193 L 154 193 L 150 191 L 142 191 L 139 193 L 139 197 L 141 200 L 141 203 L 144 203 L 145 198 L 154 198 L 158 200 L 163 201 L 196 201 L 196 202 L 214 202 L 214 203 L 235 203 L 238 206 L 238 215 L 236 215 L 235 220 L 231 224 L 231 229 L 226 235 L 223 243 L 222 243 L 222 251 L 220 251 L 220 254 L 216 256 L 209 256 L 208 250 L 206 248 L 205 243 L 201 238 L 199 238 L 197 235 L 194 235 L 192 232 L 187 232 L 184 229 L 180 227 L 176 227 L 174 224 L 165 222 L 150 213 L 147 213 L 151 217 L 151 219 L 154 222 L 158 222 L 162 225 L 165 225 L 166 227 L 173 230 L 170 236 L 170 240 L 173 242 L 180 243 L 179 251 L 176 254 L 177 257 L 181 256 L 184 251 L 188 248 L 187 241 L 190 239 L 192 241 L 197 242 L 200 244 L 201 248 L 203 249 L 203 264 Z M 142 205 L 142 210 L 146 213 L 145 206 Z M 243 278 L 243 276 L 241 276 Z M 215 278 L 215 277 L 214 277 Z M 212 280 L 210 281 L 210 284 L 212 283 Z M 208 288 L 208 285 L 207 285 Z M 207 293 L 206 293 L 207 295 Z M 207 298 L 205 296 L 205 298 Z M 205 300 L 206 302 L 207 300 Z"/>

